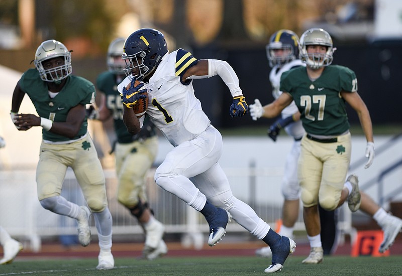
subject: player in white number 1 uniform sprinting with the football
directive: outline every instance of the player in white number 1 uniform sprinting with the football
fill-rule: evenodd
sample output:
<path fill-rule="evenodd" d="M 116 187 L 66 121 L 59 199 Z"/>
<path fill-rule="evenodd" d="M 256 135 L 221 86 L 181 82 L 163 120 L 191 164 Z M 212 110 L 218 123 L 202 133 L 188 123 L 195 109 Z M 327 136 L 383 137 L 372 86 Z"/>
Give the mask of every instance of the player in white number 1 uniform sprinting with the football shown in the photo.
<path fill-rule="evenodd" d="M 249 205 L 234 197 L 218 163 L 222 135 L 211 125 L 194 95 L 194 79 L 218 75 L 233 96 L 230 115 L 244 116 L 248 107 L 233 68 L 222 60 L 197 60 L 183 49 L 168 53 L 164 35 L 154 29 L 131 34 L 124 45 L 123 59 L 128 64 L 127 78 L 118 87 L 123 101 L 135 103 L 141 98 L 143 95 L 137 92 L 145 86 L 134 87 L 134 81 L 145 82 L 149 98 L 146 115 L 174 147 L 157 168 L 155 182 L 205 216 L 210 226 L 210 246 L 222 239 L 233 217 L 271 247 L 272 264 L 265 272 L 280 270 L 296 244 L 278 235 Z M 132 108 L 124 106 L 123 120 L 133 135 L 141 131 L 143 117 L 137 118 Z"/>

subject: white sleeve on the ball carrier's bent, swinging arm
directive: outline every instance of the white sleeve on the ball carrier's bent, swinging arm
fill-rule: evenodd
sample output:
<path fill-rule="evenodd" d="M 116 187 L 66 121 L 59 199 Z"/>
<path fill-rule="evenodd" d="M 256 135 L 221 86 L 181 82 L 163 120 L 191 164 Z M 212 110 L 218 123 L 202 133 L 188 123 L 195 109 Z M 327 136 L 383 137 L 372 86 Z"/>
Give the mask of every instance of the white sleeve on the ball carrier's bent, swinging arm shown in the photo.
<path fill-rule="evenodd" d="M 235 70 L 224 60 L 209 59 L 208 60 L 208 77 L 220 76 L 225 84 L 229 87 L 233 97 L 242 96 L 243 92 L 239 86 L 239 78 Z"/>

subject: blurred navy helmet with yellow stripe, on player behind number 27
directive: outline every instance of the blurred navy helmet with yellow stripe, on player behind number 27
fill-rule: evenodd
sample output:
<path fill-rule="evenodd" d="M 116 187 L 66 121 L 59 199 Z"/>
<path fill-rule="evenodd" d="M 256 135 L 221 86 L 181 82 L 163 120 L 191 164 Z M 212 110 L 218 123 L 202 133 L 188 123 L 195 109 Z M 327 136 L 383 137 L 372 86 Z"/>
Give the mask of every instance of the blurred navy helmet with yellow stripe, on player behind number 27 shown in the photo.
<path fill-rule="evenodd" d="M 298 58 L 298 37 L 290 30 L 279 30 L 271 36 L 265 49 L 269 66 L 281 66 Z M 279 54 L 278 50 L 283 52 Z"/>

